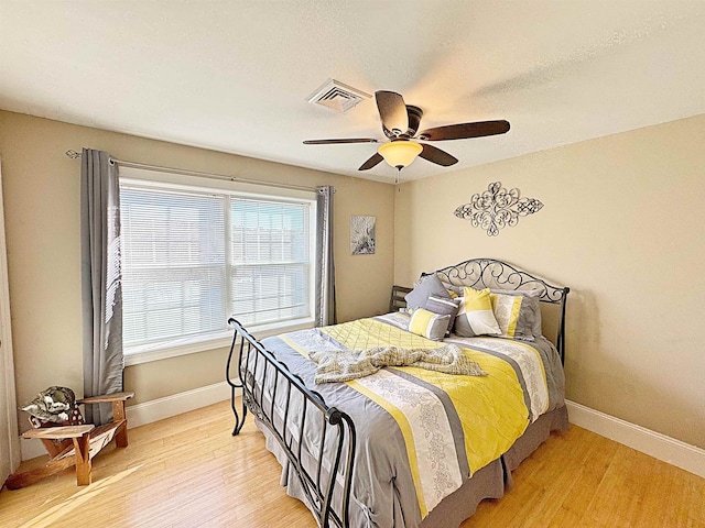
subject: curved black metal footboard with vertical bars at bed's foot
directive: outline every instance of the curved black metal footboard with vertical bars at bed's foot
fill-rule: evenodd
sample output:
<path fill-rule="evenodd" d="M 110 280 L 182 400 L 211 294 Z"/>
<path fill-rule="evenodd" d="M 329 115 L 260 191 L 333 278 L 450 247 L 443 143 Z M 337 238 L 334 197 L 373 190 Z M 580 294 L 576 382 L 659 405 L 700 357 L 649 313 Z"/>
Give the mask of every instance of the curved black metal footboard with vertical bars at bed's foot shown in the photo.
<path fill-rule="evenodd" d="M 352 420 L 328 407 L 321 394 L 306 387 L 236 319 L 228 323 L 235 328 L 226 364 L 232 436 L 239 435 L 249 409 L 286 455 L 318 526 L 348 527 L 356 447 Z M 242 389 L 241 415 L 237 389 Z"/>

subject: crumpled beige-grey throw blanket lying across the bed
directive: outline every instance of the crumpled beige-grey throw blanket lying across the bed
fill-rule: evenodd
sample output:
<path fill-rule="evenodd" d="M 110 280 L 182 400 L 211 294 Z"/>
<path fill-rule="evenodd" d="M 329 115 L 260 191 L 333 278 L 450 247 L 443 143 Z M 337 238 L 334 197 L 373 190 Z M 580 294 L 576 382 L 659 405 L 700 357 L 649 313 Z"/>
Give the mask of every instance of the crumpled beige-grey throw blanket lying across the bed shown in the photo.
<path fill-rule="evenodd" d="M 465 376 L 487 375 L 457 344 L 445 344 L 437 349 L 373 346 L 366 350 L 328 350 L 311 352 L 310 358 L 318 365 L 314 377 L 316 383 L 347 382 L 375 374 L 383 366 L 417 366 Z"/>

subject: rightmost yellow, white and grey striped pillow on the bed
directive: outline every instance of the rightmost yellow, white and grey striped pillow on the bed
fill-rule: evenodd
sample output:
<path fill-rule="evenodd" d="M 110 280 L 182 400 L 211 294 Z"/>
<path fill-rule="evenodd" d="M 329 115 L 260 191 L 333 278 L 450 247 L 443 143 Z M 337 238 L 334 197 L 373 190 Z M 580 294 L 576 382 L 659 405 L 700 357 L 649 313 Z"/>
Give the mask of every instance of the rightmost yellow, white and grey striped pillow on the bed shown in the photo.
<path fill-rule="evenodd" d="M 539 298 L 521 290 L 490 294 L 492 311 L 503 338 L 534 341 L 535 312 L 540 310 Z"/>

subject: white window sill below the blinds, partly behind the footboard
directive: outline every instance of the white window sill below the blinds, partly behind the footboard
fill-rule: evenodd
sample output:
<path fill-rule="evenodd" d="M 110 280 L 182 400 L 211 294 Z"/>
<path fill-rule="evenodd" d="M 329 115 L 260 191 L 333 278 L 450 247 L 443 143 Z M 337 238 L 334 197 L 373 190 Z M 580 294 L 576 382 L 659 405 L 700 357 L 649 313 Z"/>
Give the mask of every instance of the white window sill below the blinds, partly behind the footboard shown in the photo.
<path fill-rule="evenodd" d="M 257 340 L 269 338 L 284 332 L 293 332 L 313 328 L 313 319 L 297 319 L 286 321 L 279 324 L 262 324 L 252 327 L 251 333 Z M 250 329 L 248 329 L 250 330 Z M 232 343 L 232 332 L 223 332 L 207 340 L 184 342 L 183 344 L 154 345 L 150 349 L 142 349 L 135 352 L 124 352 L 124 366 L 140 365 L 142 363 L 151 363 L 152 361 L 167 360 L 170 358 L 178 358 L 180 355 L 196 354 L 198 352 L 207 352 L 209 350 L 230 346 Z"/>

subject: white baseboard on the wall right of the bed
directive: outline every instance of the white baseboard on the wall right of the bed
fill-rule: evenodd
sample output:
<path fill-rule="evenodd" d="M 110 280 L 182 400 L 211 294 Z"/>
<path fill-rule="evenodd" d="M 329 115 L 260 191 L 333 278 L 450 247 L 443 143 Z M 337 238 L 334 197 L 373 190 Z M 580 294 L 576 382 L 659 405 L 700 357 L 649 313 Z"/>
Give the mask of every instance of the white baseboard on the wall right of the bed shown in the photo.
<path fill-rule="evenodd" d="M 705 450 L 620 420 L 575 402 L 565 402 L 571 424 L 705 479 Z"/>

